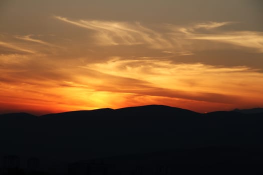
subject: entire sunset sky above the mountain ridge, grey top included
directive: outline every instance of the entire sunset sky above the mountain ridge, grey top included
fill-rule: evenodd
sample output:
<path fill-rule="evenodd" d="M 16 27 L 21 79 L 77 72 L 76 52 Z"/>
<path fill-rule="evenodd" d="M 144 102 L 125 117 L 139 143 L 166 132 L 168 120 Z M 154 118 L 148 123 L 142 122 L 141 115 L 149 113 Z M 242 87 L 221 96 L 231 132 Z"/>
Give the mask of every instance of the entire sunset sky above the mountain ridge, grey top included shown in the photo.
<path fill-rule="evenodd" d="M 263 107 L 262 0 L 1 0 L 0 113 Z"/>

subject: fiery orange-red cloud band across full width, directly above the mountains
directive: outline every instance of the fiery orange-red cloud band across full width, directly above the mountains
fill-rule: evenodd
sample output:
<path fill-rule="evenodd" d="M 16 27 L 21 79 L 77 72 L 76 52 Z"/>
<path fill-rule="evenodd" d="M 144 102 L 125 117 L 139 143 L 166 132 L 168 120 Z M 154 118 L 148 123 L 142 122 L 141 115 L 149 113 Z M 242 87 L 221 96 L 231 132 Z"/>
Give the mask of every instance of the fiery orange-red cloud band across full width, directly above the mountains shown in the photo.
<path fill-rule="evenodd" d="M 0 103 L 11 106 L 54 106 L 48 107 L 50 111 L 65 111 L 169 101 L 165 104 L 202 111 L 197 106 L 226 109 L 246 105 L 249 99 L 253 99 L 251 105 L 262 101 L 258 94 L 263 93 L 263 73 L 247 66 L 175 63 L 151 57 L 111 57 L 73 66 L 34 55 L 22 60 L 20 55 L 5 57 L 0 57 L 4 65 L 0 66 Z M 16 102 L 12 102 L 14 96 Z"/>

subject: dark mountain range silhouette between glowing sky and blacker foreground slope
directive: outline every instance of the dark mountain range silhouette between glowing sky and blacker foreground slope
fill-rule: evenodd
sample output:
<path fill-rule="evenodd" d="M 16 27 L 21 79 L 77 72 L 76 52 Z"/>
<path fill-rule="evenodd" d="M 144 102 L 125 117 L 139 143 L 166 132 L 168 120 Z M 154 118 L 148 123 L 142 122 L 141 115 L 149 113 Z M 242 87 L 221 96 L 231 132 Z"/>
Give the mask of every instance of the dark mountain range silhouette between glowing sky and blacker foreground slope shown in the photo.
<path fill-rule="evenodd" d="M 79 160 L 107 159 L 105 157 L 119 157 L 108 158 L 117 161 L 125 157 L 129 159 L 128 155 L 136 155 L 136 162 L 146 154 L 160 160 L 153 152 L 169 152 L 177 164 L 178 157 L 183 157 L 184 164 L 187 161 L 198 164 L 196 157 L 201 154 L 212 161 L 218 157 L 220 160 L 225 152 L 239 159 L 241 155 L 250 159 L 255 154 L 263 159 L 262 125 L 262 113 L 216 111 L 204 114 L 165 105 L 102 108 L 42 116 L 2 114 L 0 155 L 19 155 L 21 159 L 38 157 L 43 169 Z M 211 152 L 216 155 L 211 157 Z M 245 156 L 247 152 L 252 153 Z M 161 154 L 164 159 L 169 157 Z M 255 162 L 261 163 L 259 160 Z"/>

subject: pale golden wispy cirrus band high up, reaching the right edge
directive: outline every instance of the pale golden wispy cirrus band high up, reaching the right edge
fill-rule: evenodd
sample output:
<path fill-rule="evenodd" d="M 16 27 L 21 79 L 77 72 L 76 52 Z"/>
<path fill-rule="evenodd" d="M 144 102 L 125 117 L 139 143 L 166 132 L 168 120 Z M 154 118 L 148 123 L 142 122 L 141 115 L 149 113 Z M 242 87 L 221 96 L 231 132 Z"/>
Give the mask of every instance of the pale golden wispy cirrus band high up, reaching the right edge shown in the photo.
<path fill-rule="evenodd" d="M 233 46 L 253 48 L 263 52 L 263 33 L 258 31 L 233 30 L 221 28 L 233 25 L 235 21 L 205 21 L 191 25 L 156 24 L 155 29 L 140 22 L 106 21 L 106 20 L 71 20 L 54 16 L 61 21 L 93 30 L 93 37 L 100 45 L 138 45 L 144 44 L 155 49 L 172 49 L 177 53 L 193 53 L 198 40 L 210 40 L 228 43 Z M 191 40 L 196 40 L 191 42 Z M 206 45 L 209 49 L 209 44 Z M 179 54 L 180 55 L 180 54 Z M 185 55 L 185 54 L 182 54 Z M 188 54 L 186 54 L 188 55 Z"/>

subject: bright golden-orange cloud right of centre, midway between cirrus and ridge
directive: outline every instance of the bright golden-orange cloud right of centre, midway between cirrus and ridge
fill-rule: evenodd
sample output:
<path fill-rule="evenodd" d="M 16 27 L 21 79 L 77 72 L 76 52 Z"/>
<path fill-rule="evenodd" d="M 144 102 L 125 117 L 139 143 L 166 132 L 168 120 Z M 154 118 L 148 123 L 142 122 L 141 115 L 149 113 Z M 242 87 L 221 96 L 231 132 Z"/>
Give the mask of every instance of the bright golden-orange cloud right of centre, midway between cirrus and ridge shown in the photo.
<path fill-rule="evenodd" d="M 115 76 L 133 77 L 147 82 L 141 88 L 136 85 L 137 89 L 127 88 L 130 91 L 125 92 L 210 102 L 236 102 L 237 96 L 247 93 L 250 88 L 249 86 L 240 88 L 240 83 L 254 84 L 253 89 L 257 91 L 261 91 L 260 84 L 263 83 L 261 79 L 263 74 L 246 66 L 224 67 L 202 63 L 172 63 L 169 60 L 115 58 L 106 63 L 94 63 L 86 67 Z M 257 79 L 256 83 L 255 79 Z M 120 85 L 115 84 L 114 88 L 115 90 L 123 89 L 126 87 L 125 84 L 127 87 L 133 85 L 132 81 L 130 83 L 120 81 Z M 223 94 L 218 93 L 221 89 L 224 89 Z"/>

